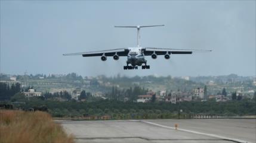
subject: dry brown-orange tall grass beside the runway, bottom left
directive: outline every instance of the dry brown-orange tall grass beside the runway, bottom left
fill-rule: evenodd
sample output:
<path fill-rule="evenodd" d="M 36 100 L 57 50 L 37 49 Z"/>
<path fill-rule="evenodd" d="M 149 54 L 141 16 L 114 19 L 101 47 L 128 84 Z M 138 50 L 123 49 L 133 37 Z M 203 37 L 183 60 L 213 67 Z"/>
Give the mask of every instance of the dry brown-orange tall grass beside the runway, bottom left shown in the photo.
<path fill-rule="evenodd" d="M 44 112 L 0 110 L 0 142 L 72 143 L 73 137 Z"/>

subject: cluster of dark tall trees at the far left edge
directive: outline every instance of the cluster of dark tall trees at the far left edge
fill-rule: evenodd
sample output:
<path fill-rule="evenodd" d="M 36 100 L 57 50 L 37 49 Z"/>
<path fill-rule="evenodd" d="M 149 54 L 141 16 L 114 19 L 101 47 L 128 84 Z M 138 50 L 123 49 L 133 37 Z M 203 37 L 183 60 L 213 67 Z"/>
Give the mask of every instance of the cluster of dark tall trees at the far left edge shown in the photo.
<path fill-rule="evenodd" d="M 14 94 L 20 92 L 20 84 L 6 84 L 0 82 L 0 100 L 10 100 Z"/>

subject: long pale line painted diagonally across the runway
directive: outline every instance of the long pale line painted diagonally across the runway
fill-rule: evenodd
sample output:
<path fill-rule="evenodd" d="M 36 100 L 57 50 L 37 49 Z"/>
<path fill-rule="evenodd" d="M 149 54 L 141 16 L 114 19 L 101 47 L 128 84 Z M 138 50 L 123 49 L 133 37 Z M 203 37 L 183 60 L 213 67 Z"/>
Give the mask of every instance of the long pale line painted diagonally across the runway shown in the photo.
<path fill-rule="evenodd" d="M 152 123 L 152 122 L 148 122 L 148 121 L 144 121 L 144 120 L 140 120 L 140 122 L 148 123 L 148 124 L 155 125 L 155 126 L 161 126 L 162 128 L 175 129 L 174 127 L 171 127 L 171 126 L 160 125 L 158 123 Z M 192 131 L 192 130 L 188 130 L 188 129 L 180 129 L 180 128 L 178 128 L 177 130 L 178 131 L 184 131 L 184 132 L 190 132 L 190 133 L 193 133 L 193 134 L 212 136 L 212 137 L 215 137 L 215 138 L 221 138 L 221 139 L 225 139 L 227 141 L 233 141 L 233 142 L 238 142 L 238 143 L 252 143 L 252 142 L 248 142 L 248 141 L 243 141 L 242 139 L 227 138 L 226 136 L 220 136 L 220 135 L 214 135 L 214 134 L 206 134 L 206 133 L 203 133 L 203 132 L 197 132 L 197 131 Z"/>

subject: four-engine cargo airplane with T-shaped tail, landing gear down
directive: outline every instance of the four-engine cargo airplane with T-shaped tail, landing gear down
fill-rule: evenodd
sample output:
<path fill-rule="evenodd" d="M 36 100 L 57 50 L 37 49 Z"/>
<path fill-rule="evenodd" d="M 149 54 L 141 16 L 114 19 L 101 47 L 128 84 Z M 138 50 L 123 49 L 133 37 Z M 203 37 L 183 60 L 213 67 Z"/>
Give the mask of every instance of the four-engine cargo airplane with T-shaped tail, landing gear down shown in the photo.
<path fill-rule="evenodd" d="M 156 25 L 164 26 L 164 25 Z M 144 27 L 156 27 L 156 26 L 115 26 L 115 27 L 127 27 L 137 28 L 137 47 L 128 47 L 121 49 L 110 50 L 98 50 L 94 52 L 83 53 L 67 53 L 64 56 L 82 55 L 88 56 L 101 56 L 101 61 L 106 61 L 107 56 L 113 56 L 113 59 L 118 60 L 119 56 L 127 56 L 127 65 L 124 69 L 138 69 L 138 66 L 142 66 L 142 69 L 150 69 L 147 65 L 145 56 L 151 56 L 152 59 L 156 59 L 158 55 L 164 55 L 165 59 L 169 59 L 171 54 L 192 54 L 192 52 L 211 52 L 211 50 L 187 50 L 187 49 L 168 49 L 158 47 L 141 47 L 140 46 L 140 28 Z"/>

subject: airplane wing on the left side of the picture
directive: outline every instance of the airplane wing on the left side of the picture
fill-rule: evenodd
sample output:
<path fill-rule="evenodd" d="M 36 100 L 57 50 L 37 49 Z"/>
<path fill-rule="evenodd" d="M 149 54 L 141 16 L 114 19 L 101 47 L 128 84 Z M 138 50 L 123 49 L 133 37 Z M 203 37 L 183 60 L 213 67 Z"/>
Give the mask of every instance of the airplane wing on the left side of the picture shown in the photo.
<path fill-rule="evenodd" d="M 129 50 L 125 48 L 121 49 L 110 49 L 110 50 L 97 50 L 93 52 L 82 52 L 82 53 L 65 53 L 63 56 L 73 56 L 73 55 L 82 55 L 84 57 L 88 56 L 114 56 L 117 54 L 118 56 L 127 56 Z"/>

